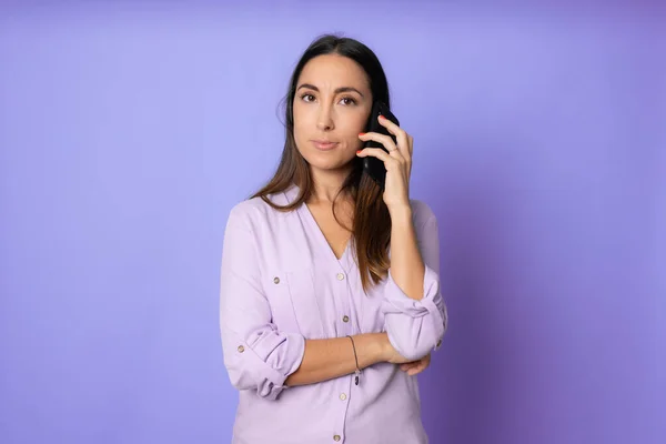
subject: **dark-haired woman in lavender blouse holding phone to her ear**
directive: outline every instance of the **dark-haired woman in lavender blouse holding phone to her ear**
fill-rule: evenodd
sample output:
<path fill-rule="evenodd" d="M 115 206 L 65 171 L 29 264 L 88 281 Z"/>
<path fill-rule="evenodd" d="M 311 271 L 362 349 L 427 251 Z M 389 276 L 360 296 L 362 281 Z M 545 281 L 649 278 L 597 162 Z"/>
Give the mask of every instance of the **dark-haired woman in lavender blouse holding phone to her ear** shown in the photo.
<path fill-rule="evenodd" d="M 286 100 L 273 179 L 235 205 L 224 234 L 220 323 L 240 390 L 238 444 L 426 443 L 416 373 L 446 330 L 437 221 L 408 199 L 413 139 L 363 134 L 390 104 L 364 44 L 325 36 Z M 381 149 L 362 149 L 374 140 Z M 382 189 L 363 158 L 386 167 Z"/>

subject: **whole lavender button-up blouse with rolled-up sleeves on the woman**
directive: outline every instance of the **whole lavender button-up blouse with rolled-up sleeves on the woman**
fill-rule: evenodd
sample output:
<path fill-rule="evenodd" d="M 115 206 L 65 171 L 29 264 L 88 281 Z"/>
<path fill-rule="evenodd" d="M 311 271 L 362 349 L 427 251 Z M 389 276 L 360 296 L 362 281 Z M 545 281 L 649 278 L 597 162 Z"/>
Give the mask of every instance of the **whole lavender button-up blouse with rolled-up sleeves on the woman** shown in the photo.
<path fill-rule="evenodd" d="M 278 204 L 299 189 L 271 196 Z M 407 297 L 391 274 L 369 294 L 353 249 L 339 260 L 305 204 L 283 213 L 261 199 L 235 205 L 224 233 L 220 326 L 224 364 L 240 391 L 233 444 L 427 443 L 416 376 L 398 365 L 285 386 L 306 339 L 387 332 L 417 360 L 441 346 L 447 326 L 440 292 L 437 221 L 411 202 L 425 262 L 424 296 Z"/>

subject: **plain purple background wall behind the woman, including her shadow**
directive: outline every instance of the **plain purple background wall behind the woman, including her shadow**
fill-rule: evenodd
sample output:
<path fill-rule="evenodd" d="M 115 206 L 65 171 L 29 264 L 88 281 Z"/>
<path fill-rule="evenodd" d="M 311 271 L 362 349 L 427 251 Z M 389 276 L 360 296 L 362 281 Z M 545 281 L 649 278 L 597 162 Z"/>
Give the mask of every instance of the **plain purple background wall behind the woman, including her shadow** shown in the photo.
<path fill-rule="evenodd" d="M 666 442 L 666 14 L 627 3 L 3 3 L 0 442 L 229 442 L 224 223 L 327 31 L 440 219 L 432 442 Z"/>

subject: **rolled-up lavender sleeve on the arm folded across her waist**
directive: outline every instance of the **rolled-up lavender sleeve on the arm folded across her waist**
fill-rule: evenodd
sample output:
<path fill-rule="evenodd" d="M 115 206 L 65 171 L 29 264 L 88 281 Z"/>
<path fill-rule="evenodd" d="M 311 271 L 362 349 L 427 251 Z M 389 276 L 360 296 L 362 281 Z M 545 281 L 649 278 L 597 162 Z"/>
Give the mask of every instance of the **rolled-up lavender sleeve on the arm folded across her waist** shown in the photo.
<path fill-rule="evenodd" d="M 244 210 L 244 211 L 243 211 Z M 224 365 L 233 386 L 276 400 L 284 381 L 301 365 L 305 339 L 278 330 L 262 291 L 256 238 L 246 215 L 235 206 L 222 249 L 220 331 Z"/>

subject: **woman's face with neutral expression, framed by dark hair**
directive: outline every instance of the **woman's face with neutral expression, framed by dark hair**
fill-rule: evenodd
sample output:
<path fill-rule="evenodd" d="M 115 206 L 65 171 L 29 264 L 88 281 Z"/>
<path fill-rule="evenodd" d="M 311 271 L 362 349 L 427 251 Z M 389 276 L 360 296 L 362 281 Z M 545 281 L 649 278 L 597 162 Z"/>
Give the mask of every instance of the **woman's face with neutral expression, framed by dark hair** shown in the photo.
<path fill-rule="evenodd" d="M 372 94 L 365 71 L 337 54 L 310 60 L 296 83 L 294 139 L 315 170 L 344 169 L 363 141 Z"/>

